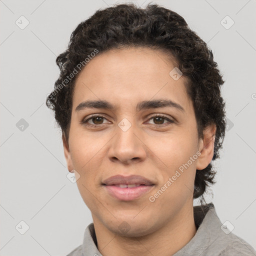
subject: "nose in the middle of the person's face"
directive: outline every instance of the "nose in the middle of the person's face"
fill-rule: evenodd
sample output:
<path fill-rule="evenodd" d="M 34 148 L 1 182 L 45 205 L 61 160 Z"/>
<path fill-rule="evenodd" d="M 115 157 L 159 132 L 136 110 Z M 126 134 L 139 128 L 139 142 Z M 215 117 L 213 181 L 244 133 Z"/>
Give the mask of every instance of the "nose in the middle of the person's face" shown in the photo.
<path fill-rule="evenodd" d="M 132 164 L 146 158 L 146 146 L 134 125 L 126 131 L 116 125 L 116 134 L 110 141 L 108 157 L 111 161 Z"/>

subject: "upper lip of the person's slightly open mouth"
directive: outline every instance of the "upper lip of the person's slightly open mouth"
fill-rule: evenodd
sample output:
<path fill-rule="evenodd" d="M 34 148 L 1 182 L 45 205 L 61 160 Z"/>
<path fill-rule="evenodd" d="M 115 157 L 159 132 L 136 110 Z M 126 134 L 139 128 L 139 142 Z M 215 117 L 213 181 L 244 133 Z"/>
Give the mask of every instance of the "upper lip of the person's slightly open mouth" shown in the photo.
<path fill-rule="evenodd" d="M 145 177 L 140 175 L 130 175 L 130 176 L 122 176 L 115 175 L 111 176 L 102 182 L 103 185 L 117 185 L 117 184 L 143 184 L 143 185 L 153 185 L 153 182 L 148 180 Z"/>

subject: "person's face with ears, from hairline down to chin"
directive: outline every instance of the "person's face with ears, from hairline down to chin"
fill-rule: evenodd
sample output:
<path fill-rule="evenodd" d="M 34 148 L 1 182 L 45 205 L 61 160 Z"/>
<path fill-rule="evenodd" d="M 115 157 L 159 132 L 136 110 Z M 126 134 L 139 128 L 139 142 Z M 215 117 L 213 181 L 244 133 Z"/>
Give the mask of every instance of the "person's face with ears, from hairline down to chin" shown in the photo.
<path fill-rule="evenodd" d="M 198 139 L 185 77 L 173 79 L 174 67 L 162 51 L 116 49 L 76 79 L 65 158 L 93 222 L 114 233 L 149 234 L 177 220 L 192 208 L 196 169 L 212 158 L 214 140 Z M 124 179 L 108 179 L 115 175 Z"/>

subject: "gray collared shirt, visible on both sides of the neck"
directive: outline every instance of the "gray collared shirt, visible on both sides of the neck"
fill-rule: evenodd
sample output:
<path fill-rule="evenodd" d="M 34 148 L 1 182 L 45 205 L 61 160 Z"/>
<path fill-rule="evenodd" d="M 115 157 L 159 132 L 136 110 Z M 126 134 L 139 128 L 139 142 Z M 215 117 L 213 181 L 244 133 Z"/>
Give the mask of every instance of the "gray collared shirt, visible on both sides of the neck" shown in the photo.
<path fill-rule="evenodd" d="M 212 203 L 194 206 L 194 222 L 197 228 L 192 239 L 172 256 L 256 256 L 256 251 L 239 236 L 223 225 Z M 97 249 L 93 223 L 85 231 L 83 243 L 67 256 L 102 256 Z"/>

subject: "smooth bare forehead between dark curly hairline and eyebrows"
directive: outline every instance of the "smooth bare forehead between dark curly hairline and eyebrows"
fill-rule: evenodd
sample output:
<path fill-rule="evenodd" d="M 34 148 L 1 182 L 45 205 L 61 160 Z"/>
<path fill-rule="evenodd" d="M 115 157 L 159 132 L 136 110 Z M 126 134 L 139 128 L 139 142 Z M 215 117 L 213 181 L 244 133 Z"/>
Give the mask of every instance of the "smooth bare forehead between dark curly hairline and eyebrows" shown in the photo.
<path fill-rule="evenodd" d="M 123 48 L 98 53 L 79 73 L 73 93 L 73 110 L 86 100 L 105 100 L 118 106 L 137 106 L 137 102 L 170 99 L 188 108 L 181 76 L 174 80 L 169 72 L 175 60 L 162 50 Z"/>

